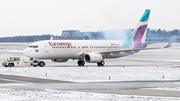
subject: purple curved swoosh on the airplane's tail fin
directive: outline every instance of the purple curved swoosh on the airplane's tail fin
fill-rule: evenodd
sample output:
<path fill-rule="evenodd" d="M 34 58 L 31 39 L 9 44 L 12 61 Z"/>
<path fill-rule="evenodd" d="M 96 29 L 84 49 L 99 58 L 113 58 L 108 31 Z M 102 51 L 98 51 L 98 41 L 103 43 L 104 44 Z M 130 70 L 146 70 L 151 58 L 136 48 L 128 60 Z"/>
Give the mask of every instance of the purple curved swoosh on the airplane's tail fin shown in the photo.
<path fill-rule="evenodd" d="M 134 49 L 141 48 L 141 39 L 144 35 L 147 25 L 142 25 L 138 28 L 135 36 L 134 36 Z"/>

